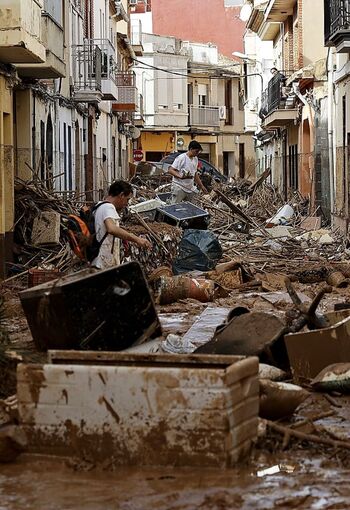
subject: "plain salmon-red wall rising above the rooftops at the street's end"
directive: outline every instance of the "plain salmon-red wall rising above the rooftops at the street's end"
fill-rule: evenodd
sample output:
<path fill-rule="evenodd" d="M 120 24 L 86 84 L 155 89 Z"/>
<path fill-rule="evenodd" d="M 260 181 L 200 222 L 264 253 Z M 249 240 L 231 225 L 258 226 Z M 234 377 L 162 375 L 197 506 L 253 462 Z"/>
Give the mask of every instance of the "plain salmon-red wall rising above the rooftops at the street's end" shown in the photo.
<path fill-rule="evenodd" d="M 153 32 L 182 40 L 214 43 L 227 57 L 243 51 L 245 23 L 240 7 L 224 7 L 224 0 L 152 0 Z"/>

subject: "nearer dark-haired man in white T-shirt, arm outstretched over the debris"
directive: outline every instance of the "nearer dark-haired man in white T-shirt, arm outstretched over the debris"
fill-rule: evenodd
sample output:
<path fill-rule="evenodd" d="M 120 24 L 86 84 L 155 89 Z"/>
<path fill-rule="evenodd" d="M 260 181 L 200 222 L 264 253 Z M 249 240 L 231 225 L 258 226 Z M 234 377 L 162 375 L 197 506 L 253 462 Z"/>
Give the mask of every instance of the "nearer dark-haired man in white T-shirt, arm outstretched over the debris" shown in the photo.
<path fill-rule="evenodd" d="M 147 239 L 131 234 L 119 226 L 118 211 L 128 205 L 131 197 L 131 185 L 126 181 L 115 181 L 108 190 L 108 196 L 104 200 L 106 203 L 96 209 L 96 239 L 101 242 L 104 238 L 97 257 L 92 261 L 92 265 L 98 269 L 107 269 L 120 264 L 120 239 L 135 243 L 141 248 L 152 248 Z"/>

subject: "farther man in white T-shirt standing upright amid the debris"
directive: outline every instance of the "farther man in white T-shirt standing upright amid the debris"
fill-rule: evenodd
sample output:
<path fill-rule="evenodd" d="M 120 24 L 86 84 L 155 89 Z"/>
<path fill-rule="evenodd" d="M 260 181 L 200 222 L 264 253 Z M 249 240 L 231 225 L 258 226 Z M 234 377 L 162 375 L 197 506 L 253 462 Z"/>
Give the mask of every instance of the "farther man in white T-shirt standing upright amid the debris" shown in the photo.
<path fill-rule="evenodd" d="M 171 186 L 171 203 L 178 204 L 182 201 L 191 202 L 195 193 L 198 192 L 195 187 L 208 193 L 198 175 L 198 154 L 202 151 L 202 146 L 196 140 L 192 140 L 188 146 L 188 151 L 180 154 L 173 162 L 168 173 L 173 176 Z"/>

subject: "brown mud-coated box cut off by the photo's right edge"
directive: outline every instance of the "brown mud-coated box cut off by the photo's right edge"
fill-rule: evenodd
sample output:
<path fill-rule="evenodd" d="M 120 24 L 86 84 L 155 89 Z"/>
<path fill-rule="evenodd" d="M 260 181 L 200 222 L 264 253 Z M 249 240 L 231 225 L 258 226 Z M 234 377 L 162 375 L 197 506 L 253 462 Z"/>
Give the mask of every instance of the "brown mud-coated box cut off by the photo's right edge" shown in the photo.
<path fill-rule="evenodd" d="M 350 310 L 331 312 L 331 324 L 323 329 L 285 335 L 284 341 L 294 377 L 311 379 L 332 363 L 350 359 Z"/>

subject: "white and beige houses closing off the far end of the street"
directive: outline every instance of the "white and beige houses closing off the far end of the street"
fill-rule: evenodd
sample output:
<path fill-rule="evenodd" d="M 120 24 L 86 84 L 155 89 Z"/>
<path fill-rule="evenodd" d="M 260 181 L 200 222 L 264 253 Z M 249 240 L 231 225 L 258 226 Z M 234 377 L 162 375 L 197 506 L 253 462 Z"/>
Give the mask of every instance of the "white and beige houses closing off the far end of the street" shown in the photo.
<path fill-rule="evenodd" d="M 235 63 L 220 60 L 214 45 L 175 37 L 144 33 L 143 47 L 135 66 L 145 98 L 138 141 L 143 159 L 160 161 L 196 139 L 203 147 L 202 157 L 227 176 L 254 176 L 253 142 L 244 133 Z"/>

